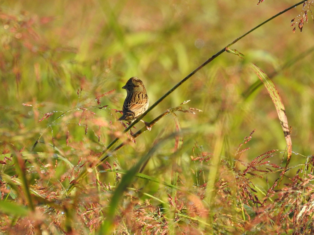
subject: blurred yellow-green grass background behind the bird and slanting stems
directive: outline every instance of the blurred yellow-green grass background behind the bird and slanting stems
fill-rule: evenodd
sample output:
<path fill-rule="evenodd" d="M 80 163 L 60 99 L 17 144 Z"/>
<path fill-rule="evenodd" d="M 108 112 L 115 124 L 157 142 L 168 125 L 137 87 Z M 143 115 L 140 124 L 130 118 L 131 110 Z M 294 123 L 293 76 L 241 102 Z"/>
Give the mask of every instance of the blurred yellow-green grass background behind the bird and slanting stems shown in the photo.
<path fill-rule="evenodd" d="M 11 148 L 31 151 L 41 137 L 45 144 L 38 144 L 34 151 L 55 153 L 51 144 L 74 165 L 79 159 L 93 159 L 124 129 L 117 121 L 120 113 L 110 108 L 122 109 L 126 92 L 121 87 L 130 77 L 138 76 L 144 82 L 152 104 L 231 41 L 295 2 L 256 4 L 257 1 L 242 0 L 136 4 L 84 0 L 1 2 L 3 154 Z M 238 156 L 242 161 L 250 162 L 272 149 L 285 149 L 275 107 L 264 87 L 247 97 L 243 95 L 259 80 L 247 66 L 249 62 L 267 74 L 278 71 L 273 81 L 292 128 L 293 151 L 298 154 L 292 155 L 290 166 L 304 163 L 304 156 L 313 154 L 313 24 L 311 20 L 305 23 L 302 33 L 298 30 L 293 33 L 290 27 L 291 19 L 301 12 L 299 6 L 247 35 L 231 48 L 246 55 L 245 61 L 228 53 L 220 55 L 145 116 L 144 120 L 150 121 L 187 100 L 191 101 L 185 106 L 203 111 L 195 115 L 176 113 L 181 128 L 185 129 L 180 153 L 181 177 L 187 187 L 200 184 L 197 177 L 189 181 L 191 175 L 187 173 L 199 169 L 190 157 L 195 156 L 195 146 L 213 153 L 217 140 L 222 138 L 221 159 L 232 163 L 239 144 L 256 129 L 246 144 L 250 150 Z M 300 54 L 301 58 L 296 59 Z M 292 63 L 281 70 L 288 61 Z M 100 98 L 101 106 L 108 107 L 98 109 L 95 98 L 108 91 L 112 92 Z M 79 109 L 83 106 L 89 106 L 89 110 Z M 68 110 L 71 111 L 55 120 Z M 49 112 L 53 114 L 39 122 Z M 136 145 L 120 149 L 108 162 L 117 161 L 119 168 L 127 170 L 138 156 L 175 131 L 175 122 L 168 115 L 137 138 Z M 163 144 L 149 161 L 146 174 L 169 182 L 172 170 L 169 162 L 175 161 L 174 143 L 170 139 Z M 43 165 L 55 164 L 49 155 L 41 161 Z M 271 162 L 285 165 L 282 154 Z M 46 180 L 43 184 L 68 177 L 71 167 L 64 165 L 57 168 L 55 179 L 42 176 Z M 273 181 L 278 175 L 270 174 L 268 180 Z M 32 177 L 36 179 L 35 175 Z M 115 184 L 112 176 L 100 177 L 101 181 Z M 204 182 L 205 179 L 206 176 Z M 264 179 L 255 180 L 267 191 L 269 185 Z M 62 182 L 64 187 L 69 183 Z M 144 191 L 152 195 L 158 191 L 158 184 L 148 184 Z"/>

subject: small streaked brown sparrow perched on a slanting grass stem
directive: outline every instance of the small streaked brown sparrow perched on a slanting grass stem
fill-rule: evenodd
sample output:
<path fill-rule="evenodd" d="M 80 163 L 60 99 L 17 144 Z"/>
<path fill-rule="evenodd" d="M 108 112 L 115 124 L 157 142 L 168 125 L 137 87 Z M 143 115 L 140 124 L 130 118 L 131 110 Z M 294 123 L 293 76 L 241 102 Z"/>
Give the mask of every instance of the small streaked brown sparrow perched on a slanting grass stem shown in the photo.
<path fill-rule="evenodd" d="M 147 110 L 149 99 L 145 86 L 138 77 L 131 77 L 122 88 L 127 90 L 127 97 L 122 107 L 123 115 L 119 120 L 131 123 Z"/>

